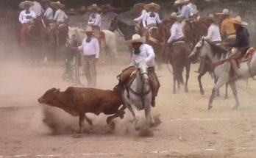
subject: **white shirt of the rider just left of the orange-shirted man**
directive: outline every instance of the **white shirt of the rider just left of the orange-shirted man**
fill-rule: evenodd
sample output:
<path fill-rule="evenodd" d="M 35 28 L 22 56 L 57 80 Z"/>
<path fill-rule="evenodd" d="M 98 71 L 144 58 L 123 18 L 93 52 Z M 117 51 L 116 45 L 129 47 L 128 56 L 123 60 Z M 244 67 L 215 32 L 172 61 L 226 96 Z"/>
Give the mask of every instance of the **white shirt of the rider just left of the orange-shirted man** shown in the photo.
<path fill-rule="evenodd" d="M 205 36 L 205 40 L 208 42 L 221 41 L 221 33 L 219 32 L 219 28 L 216 24 L 210 25 L 207 31 L 207 36 Z"/>

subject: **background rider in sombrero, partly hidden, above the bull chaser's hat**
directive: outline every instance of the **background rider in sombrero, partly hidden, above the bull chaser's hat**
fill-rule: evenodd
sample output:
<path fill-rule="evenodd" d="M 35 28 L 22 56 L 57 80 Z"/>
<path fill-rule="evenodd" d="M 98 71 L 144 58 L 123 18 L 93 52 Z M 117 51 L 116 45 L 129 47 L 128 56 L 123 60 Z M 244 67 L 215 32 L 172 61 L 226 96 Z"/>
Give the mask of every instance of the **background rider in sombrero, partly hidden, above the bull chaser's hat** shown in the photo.
<path fill-rule="evenodd" d="M 135 24 L 135 28 L 137 30 L 143 29 L 142 21 L 144 16 L 146 15 L 146 10 L 143 8 L 145 5 L 146 4 L 144 3 L 138 3 L 133 6 L 133 9 L 135 10 L 135 12 L 140 12 L 140 16 L 133 20 Z"/>

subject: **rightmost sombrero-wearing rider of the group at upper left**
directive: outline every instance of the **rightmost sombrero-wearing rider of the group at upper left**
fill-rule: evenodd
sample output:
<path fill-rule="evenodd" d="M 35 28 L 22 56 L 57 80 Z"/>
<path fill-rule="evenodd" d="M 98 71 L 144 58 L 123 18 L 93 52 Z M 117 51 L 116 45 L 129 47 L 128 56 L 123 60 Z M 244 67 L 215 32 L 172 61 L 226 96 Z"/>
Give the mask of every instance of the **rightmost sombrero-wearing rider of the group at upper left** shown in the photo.
<path fill-rule="evenodd" d="M 51 2 L 51 7 L 54 7 L 57 10 L 54 15 L 54 21 L 56 21 L 56 23 L 51 29 L 51 31 L 54 32 L 54 30 L 56 30 L 60 24 L 65 24 L 65 20 L 68 18 L 68 16 L 65 15 L 65 12 L 62 10 L 65 5 L 60 3 L 60 1 Z"/>

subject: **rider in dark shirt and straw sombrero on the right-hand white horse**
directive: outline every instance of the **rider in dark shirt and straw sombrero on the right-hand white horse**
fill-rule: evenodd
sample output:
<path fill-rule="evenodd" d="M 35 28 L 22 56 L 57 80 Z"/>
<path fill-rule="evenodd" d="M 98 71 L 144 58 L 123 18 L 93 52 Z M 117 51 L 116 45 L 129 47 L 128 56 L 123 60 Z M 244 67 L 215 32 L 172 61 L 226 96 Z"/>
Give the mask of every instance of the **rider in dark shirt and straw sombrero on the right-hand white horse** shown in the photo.
<path fill-rule="evenodd" d="M 230 21 L 230 23 L 232 23 L 235 28 L 235 43 L 224 43 L 224 46 L 234 47 L 229 59 L 232 70 L 235 73 L 234 79 L 239 79 L 242 75 L 239 71 L 236 60 L 241 59 L 241 57 L 243 57 L 243 55 L 246 54 L 246 51 L 249 49 L 249 32 L 245 27 L 243 27 L 248 24 L 245 21 L 242 21 L 240 16 L 235 17 L 235 19 Z"/>

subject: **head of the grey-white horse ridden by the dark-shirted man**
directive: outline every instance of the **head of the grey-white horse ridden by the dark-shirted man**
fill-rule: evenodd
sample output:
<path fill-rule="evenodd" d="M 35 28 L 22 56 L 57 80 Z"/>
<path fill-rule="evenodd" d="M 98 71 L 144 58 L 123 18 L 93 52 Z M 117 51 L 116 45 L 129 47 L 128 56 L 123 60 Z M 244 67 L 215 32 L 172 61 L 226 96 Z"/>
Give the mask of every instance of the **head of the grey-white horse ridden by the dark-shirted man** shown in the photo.
<path fill-rule="evenodd" d="M 191 62 L 196 63 L 199 61 L 199 57 L 205 57 L 206 55 L 207 49 L 205 47 L 205 37 L 202 37 L 188 58 L 191 60 Z"/>

